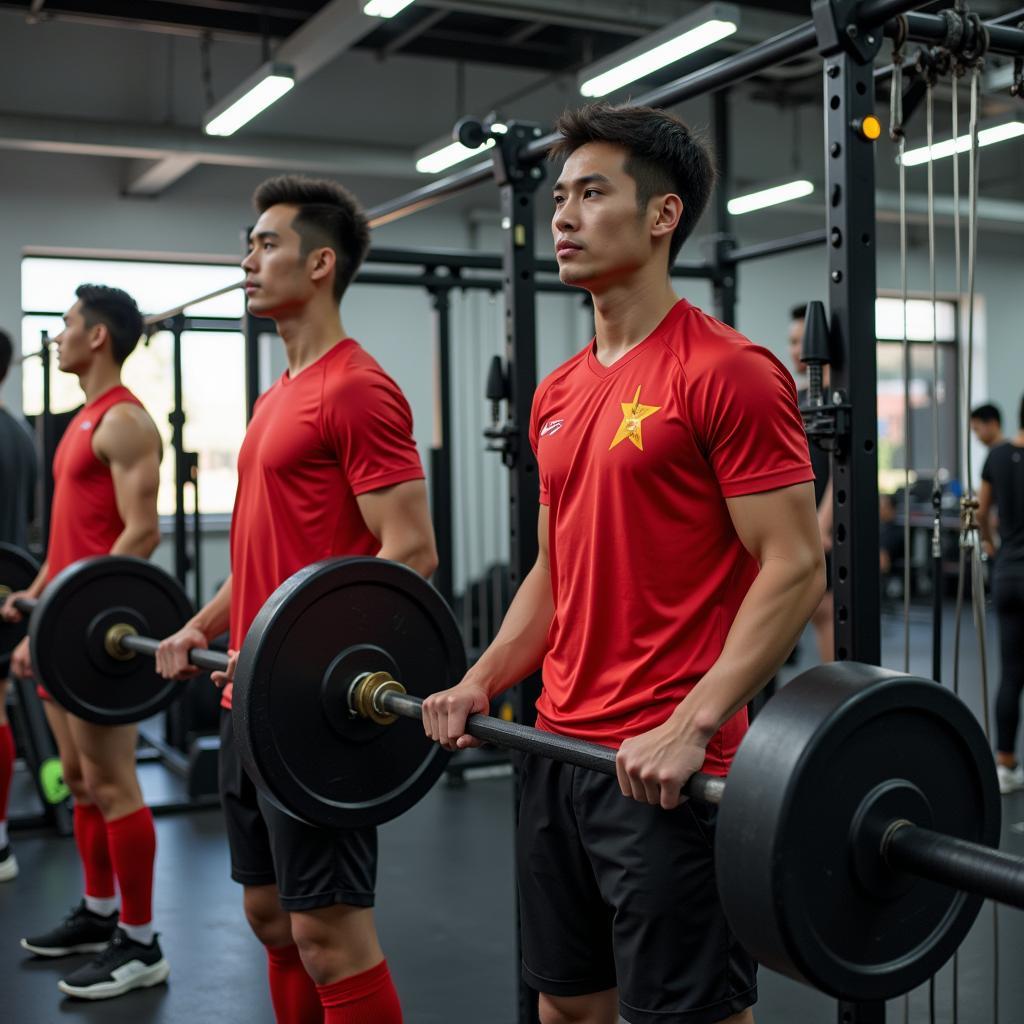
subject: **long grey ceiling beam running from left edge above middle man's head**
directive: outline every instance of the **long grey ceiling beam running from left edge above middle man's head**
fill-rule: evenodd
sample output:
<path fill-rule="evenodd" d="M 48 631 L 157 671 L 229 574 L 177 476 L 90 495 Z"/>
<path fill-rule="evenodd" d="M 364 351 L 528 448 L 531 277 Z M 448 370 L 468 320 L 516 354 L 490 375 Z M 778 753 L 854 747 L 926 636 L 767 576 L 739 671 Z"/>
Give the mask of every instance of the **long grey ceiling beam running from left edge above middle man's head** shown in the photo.
<path fill-rule="evenodd" d="M 417 177 L 413 151 L 400 146 L 278 135 L 211 138 L 199 129 L 23 114 L 0 113 L 0 148 L 141 161 L 191 159 L 221 167 L 262 167 L 396 180 Z"/>

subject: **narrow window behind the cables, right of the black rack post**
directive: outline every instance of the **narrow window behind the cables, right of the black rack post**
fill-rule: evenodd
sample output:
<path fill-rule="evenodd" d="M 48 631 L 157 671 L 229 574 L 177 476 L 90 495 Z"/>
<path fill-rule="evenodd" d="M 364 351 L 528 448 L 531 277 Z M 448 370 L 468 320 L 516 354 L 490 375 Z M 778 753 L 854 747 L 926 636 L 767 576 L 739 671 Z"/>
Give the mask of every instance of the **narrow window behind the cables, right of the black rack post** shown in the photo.
<path fill-rule="evenodd" d="M 907 438 L 903 418 L 903 303 L 880 298 L 876 302 L 878 337 L 879 488 L 893 493 L 904 484 Z M 958 368 L 956 304 L 940 301 L 935 308 L 938 338 L 938 375 L 935 373 L 931 300 L 909 299 L 906 331 L 910 348 L 911 481 L 931 480 L 938 464 L 945 482 L 959 478 L 957 428 Z M 939 453 L 935 455 L 933 410 L 938 412 Z"/>

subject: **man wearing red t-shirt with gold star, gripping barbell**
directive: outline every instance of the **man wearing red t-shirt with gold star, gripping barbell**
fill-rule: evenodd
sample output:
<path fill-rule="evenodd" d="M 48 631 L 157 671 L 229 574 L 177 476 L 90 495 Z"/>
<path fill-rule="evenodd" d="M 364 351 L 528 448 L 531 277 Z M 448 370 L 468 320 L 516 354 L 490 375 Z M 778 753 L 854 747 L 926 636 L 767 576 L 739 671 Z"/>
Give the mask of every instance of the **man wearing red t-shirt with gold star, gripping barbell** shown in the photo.
<path fill-rule="evenodd" d="M 703 145 L 649 108 L 584 108 L 558 130 L 552 233 L 596 334 L 534 399 L 537 563 L 424 727 L 472 745 L 466 716 L 542 668 L 540 728 L 618 750 L 617 779 L 524 760 L 522 971 L 545 1024 L 750 1024 L 715 811 L 680 790 L 728 771 L 746 702 L 820 598 L 807 440 L 778 360 L 673 292 L 714 179 Z"/>

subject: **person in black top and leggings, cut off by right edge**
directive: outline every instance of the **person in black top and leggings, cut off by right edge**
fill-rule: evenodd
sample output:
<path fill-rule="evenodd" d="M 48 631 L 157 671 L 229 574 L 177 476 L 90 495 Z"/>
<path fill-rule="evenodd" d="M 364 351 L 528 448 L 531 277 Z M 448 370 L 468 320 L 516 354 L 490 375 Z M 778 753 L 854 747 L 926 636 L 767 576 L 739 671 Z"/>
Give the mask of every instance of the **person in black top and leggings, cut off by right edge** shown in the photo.
<path fill-rule="evenodd" d="M 1004 794 L 1024 790 L 1024 765 L 1016 754 L 1024 691 L 1020 646 L 1024 630 L 1024 398 L 1018 426 L 1015 437 L 989 452 L 978 493 L 982 546 L 994 560 L 992 598 L 999 620 L 1002 673 L 995 698 L 995 761 Z M 997 548 L 993 512 L 998 513 Z"/>

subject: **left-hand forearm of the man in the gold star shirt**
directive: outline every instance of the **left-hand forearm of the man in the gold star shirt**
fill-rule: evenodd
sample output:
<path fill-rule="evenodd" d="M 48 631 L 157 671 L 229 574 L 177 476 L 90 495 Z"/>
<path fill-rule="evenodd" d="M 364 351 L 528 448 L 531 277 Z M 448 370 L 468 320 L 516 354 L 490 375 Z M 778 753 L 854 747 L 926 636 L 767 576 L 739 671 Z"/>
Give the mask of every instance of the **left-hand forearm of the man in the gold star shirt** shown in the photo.
<path fill-rule="evenodd" d="M 535 565 L 516 591 L 498 635 L 466 674 L 466 682 L 495 697 L 536 672 L 544 660 L 554 613 L 551 572 Z"/>

